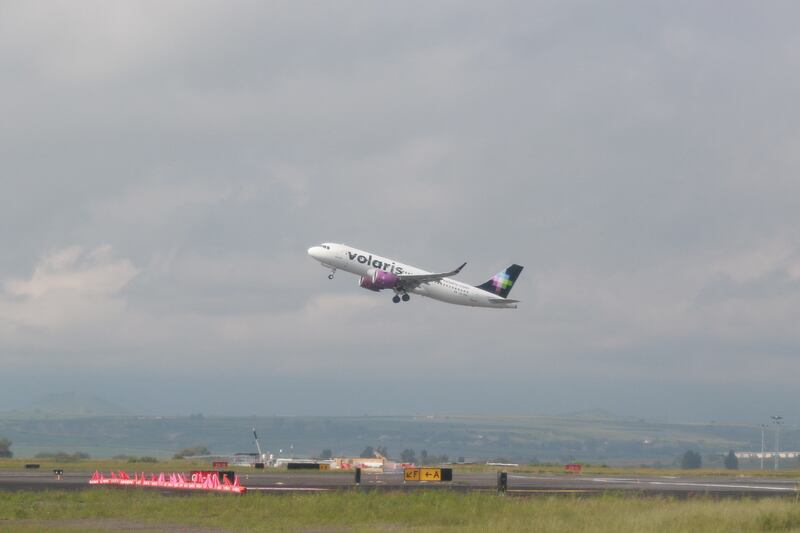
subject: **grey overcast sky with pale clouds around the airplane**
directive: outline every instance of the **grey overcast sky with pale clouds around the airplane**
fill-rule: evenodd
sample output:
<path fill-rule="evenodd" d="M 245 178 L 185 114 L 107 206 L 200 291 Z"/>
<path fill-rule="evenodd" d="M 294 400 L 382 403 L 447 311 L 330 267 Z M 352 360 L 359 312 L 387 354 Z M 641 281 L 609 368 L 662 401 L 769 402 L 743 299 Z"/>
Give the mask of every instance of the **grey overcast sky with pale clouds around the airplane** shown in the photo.
<path fill-rule="evenodd" d="M 790 423 L 796 2 L 0 2 L 0 410 Z M 394 305 L 346 242 L 517 310 Z"/>

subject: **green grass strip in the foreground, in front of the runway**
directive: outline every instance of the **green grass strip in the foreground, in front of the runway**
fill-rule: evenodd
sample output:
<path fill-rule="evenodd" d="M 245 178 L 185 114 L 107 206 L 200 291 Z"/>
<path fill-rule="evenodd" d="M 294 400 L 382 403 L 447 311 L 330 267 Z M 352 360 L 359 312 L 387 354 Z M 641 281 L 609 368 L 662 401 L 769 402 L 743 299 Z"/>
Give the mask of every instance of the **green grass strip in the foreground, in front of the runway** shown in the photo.
<path fill-rule="evenodd" d="M 2 531 L 800 531 L 794 499 L 503 497 L 337 492 L 164 496 L 142 490 L 0 493 Z"/>

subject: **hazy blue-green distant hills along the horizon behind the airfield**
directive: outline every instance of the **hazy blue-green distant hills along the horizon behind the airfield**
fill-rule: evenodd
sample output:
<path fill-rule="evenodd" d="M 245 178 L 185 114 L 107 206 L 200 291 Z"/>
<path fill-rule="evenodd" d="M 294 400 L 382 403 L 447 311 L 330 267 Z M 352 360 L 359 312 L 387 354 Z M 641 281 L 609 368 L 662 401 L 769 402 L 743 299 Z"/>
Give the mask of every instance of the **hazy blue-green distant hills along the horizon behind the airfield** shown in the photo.
<path fill-rule="evenodd" d="M 681 456 L 691 449 L 703 455 L 704 465 L 722 468 L 728 450 L 761 446 L 757 427 L 609 419 L 610 413 L 603 411 L 573 413 L 577 415 L 573 417 L 120 416 L 119 406 L 77 394 L 51 395 L 32 408 L 36 410 L 29 414 L 0 413 L 0 437 L 14 443 L 19 457 L 61 450 L 92 457 L 171 457 L 194 446 L 223 454 L 255 451 L 252 428 L 258 429 L 264 450 L 297 457 L 313 457 L 326 449 L 352 456 L 366 446 L 385 446 L 392 458 L 413 449 L 417 457 L 426 450 L 430 455 L 478 462 L 504 458 L 522 463 L 671 465 L 680 464 Z M 98 411 L 104 414 L 88 414 Z M 800 449 L 800 430 L 786 427 L 781 444 L 786 450 Z"/>

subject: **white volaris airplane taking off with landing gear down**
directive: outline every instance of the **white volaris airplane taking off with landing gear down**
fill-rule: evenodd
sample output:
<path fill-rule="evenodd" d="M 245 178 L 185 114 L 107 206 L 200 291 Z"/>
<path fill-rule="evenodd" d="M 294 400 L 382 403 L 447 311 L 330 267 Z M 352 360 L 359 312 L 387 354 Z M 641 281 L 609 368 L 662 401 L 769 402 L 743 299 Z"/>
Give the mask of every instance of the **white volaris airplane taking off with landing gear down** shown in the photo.
<path fill-rule="evenodd" d="M 359 276 L 358 284 L 364 289 L 394 291 L 394 303 L 407 302 L 410 293 L 470 307 L 516 309 L 519 303 L 519 300 L 508 298 L 508 293 L 522 272 L 522 267 L 516 264 L 473 287 L 451 279 L 461 272 L 466 263 L 451 272 L 437 274 L 345 244 L 330 242 L 312 246 L 308 249 L 308 255 L 330 269 L 328 279 L 333 279 L 337 270 L 350 272 Z"/>

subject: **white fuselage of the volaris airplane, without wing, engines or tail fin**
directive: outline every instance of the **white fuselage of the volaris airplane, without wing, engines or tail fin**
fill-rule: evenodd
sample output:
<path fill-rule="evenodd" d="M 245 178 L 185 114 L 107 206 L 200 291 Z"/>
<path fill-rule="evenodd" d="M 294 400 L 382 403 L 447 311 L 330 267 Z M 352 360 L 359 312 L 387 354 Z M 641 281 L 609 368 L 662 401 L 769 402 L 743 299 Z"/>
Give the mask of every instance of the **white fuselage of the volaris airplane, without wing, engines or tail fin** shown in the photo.
<path fill-rule="evenodd" d="M 430 274 L 426 270 L 344 244 L 323 243 L 311 247 L 308 254 L 323 266 L 332 270 L 344 270 L 359 277 L 366 276 L 372 269 L 382 269 L 398 276 Z M 452 278 L 422 283 L 408 292 L 455 305 L 495 309 L 517 307 L 515 301 L 506 301 L 496 294 Z"/>

